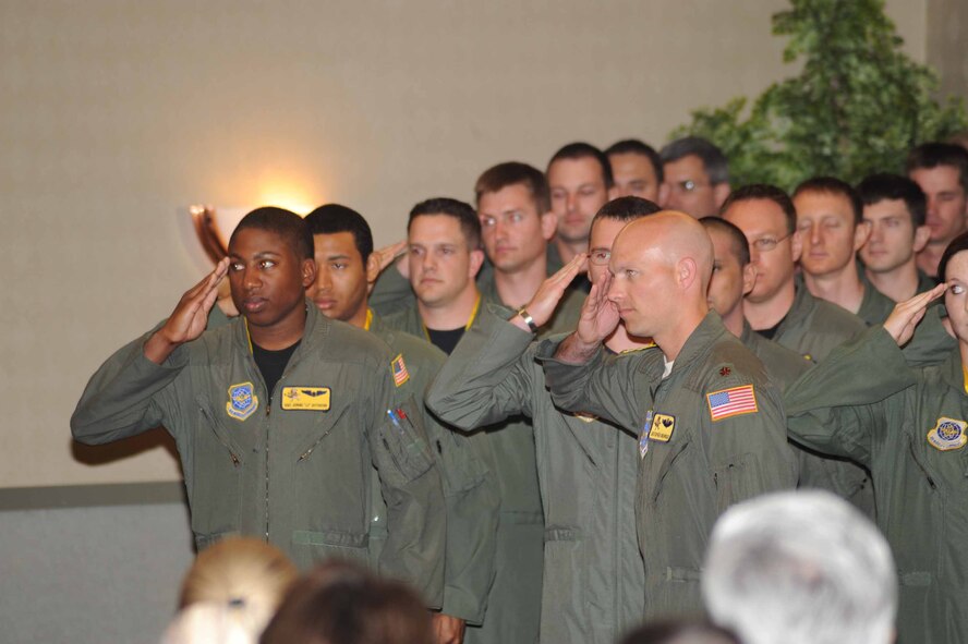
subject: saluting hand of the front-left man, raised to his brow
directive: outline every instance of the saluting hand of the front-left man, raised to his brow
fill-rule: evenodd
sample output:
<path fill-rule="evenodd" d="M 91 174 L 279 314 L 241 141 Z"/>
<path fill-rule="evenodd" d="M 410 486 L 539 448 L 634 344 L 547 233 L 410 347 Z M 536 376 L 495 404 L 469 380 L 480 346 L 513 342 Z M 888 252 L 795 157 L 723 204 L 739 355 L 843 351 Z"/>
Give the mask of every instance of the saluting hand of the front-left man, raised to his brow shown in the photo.
<path fill-rule="evenodd" d="M 229 271 L 229 258 L 189 289 L 165 325 L 145 342 L 145 357 L 161 364 L 179 344 L 196 339 L 208 324 L 208 312 L 218 297 L 218 284 Z"/>

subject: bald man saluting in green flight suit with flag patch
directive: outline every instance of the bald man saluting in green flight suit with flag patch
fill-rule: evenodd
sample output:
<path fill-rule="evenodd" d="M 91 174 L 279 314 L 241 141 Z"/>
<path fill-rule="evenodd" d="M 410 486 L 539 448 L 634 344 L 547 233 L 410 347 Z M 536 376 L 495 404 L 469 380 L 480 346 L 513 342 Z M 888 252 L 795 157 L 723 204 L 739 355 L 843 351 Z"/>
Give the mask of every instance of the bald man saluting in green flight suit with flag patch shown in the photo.
<path fill-rule="evenodd" d="M 636 515 L 645 617 L 699 615 L 713 523 L 742 499 L 796 482 L 779 394 L 707 303 L 713 244 L 692 217 L 626 226 L 578 328 L 537 351 L 560 409 L 639 437 Z M 608 355 L 619 320 L 655 347 Z"/>

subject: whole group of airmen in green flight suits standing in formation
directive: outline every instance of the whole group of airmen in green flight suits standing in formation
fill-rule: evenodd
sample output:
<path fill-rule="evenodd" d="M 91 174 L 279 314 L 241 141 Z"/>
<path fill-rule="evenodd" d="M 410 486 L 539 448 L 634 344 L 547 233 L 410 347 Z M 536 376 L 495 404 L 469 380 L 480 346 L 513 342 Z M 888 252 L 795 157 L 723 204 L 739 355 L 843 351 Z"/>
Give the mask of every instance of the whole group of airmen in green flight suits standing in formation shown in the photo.
<path fill-rule="evenodd" d="M 794 487 L 886 535 L 902 644 L 968 641 L 965 148 L 788 195 L 697 137 L 574 143 L 474 196 L 385 248 L 346 206 L 253 210 L 94 375 L 74 437 L 164 425 L 198 549 L 364 561 L 441 644 L 701 613 L 716 519 Z"/>

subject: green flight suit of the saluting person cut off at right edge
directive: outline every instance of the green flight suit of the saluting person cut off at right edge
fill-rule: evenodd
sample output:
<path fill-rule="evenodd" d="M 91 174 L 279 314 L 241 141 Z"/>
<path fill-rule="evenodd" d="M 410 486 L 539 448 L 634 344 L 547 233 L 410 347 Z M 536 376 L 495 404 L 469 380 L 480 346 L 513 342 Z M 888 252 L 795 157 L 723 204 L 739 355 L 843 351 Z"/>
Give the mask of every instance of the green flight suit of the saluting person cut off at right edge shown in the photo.
<path fill-rule="evenodd" d="M 899 644 L 968 642 L 968 396 L 958 351 L 910 368 L 883 327 L 785 397 L 790 434 L 870 467 L 900 581 Z"/>

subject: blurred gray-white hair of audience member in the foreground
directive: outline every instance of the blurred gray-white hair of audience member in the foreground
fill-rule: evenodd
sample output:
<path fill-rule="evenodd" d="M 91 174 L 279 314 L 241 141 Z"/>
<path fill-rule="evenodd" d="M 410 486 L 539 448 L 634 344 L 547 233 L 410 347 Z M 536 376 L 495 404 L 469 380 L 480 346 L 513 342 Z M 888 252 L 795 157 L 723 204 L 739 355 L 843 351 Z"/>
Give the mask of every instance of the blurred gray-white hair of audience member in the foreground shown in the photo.
<path fill-rule="evenodd" d="M 820 490 L 759 497 L 713 528 L 702 595 L 746 644 L 887 644 L 897 611 L 891 548 L 866 517 Z"/>

